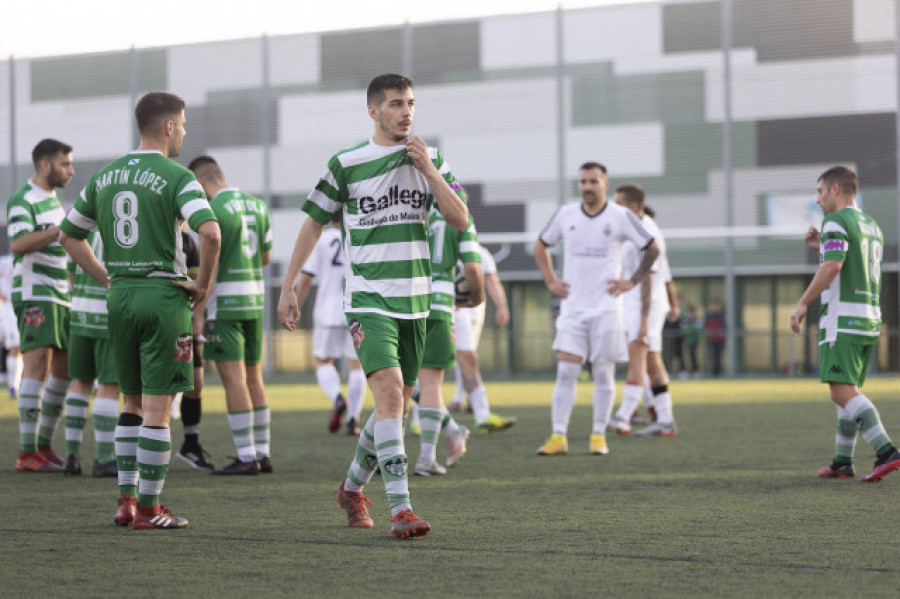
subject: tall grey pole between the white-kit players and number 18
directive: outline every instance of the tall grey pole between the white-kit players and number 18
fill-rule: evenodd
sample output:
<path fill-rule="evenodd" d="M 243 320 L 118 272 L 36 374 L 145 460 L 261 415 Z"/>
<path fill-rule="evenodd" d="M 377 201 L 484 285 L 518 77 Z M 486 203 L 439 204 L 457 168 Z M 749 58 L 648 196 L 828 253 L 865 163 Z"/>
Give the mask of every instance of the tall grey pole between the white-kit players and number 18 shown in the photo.
<path fill-rule="evenodd" d="M 900 1 L 900 0 L 898 0 Z M 722 78 L 723 78 L 723 122 L 722 122 L 722 171 L 725 176 L 725 226 L 734 227 L 734 173 L 731 133 L 731 0 L 722 0 Z M 725 239 L 725 322 L 727 373 L 733 377 L 737 372 L 737 336 L 735 320 L 735 276 L 734 239 Z"/>

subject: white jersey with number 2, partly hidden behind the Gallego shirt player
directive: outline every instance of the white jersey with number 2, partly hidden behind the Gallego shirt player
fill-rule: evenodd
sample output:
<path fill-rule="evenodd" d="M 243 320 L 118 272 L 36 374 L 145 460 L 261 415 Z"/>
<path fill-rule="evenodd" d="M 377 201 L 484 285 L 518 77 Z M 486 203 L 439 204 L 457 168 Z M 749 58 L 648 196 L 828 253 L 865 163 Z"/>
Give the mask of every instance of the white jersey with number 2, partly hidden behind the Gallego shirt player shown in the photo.
<path fill-rule="evenodd" d="M 319 289 L 316 293 L 316 307 L 313 310 L 315 326 L 346 326 L 344 318 L 344 249 L 341 230 L 327 226 L 302 272 L 316 278 Z"/>

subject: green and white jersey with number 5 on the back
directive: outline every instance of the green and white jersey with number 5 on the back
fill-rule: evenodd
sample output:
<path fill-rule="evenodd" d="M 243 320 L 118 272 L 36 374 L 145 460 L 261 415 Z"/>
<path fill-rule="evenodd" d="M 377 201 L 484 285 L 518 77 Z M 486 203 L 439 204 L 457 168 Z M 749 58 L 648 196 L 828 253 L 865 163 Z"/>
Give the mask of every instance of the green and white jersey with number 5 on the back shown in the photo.
<path fill-rule="evenodd" d="M 206 304 L 207 320 L 263 317 L 263 253 L 272 249 L 272 226 L 265 202 L 236 187 L 209 202 L 222 231 L 216 282 Z"/>

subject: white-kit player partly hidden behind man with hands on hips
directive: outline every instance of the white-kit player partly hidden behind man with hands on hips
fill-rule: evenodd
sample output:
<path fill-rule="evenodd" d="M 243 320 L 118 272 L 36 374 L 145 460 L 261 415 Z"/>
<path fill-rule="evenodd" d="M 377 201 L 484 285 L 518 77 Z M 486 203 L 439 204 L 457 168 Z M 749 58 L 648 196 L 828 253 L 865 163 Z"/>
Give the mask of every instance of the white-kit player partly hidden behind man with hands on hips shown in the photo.
<path fill-rule="evenodd" d="M 630 210 L 641 219 L 644 228 L 653 235 L 659 246 L 659 257 L 653 264 L 651 275 L 641 285 L 625 293 L 625 334 L 628 341 L 628 377 L 622 391 L 622 404 L 610 428 L 620 435 L 631 433 L 631 417 L 644 395 L 648 375 L 651 401 L 656 421 L 635 431 L 635 435 L 659 435 L 674 437 L 675 420 L 672 415 L 672 397 L 669 394 L 669 373 L 662 361 L 662 331 L 666 316 L 674 306 L 677 309 L 672 275 L 666 244 L 656 221 L 645 211 L 644 190 L 637 184 L 623 185 L 616 189 L 616 203 Z M 637 246 L 626 248 L 623 272 L 634 272 L 640 263 Z"/>

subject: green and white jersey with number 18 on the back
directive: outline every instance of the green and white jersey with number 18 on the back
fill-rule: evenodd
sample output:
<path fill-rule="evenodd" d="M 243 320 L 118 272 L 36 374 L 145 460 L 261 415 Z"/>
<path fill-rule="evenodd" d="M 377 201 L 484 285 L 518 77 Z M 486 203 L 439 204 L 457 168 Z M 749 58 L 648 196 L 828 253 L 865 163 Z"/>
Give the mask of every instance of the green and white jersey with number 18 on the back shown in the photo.
<path fill-rule="evenodd" d="M 822 261 L 844 264 L 822 293 L 819 344 L 873 345 L 881 332 L 881 260 L 878 223 L 855 207 L 825 215 L 819 242 Z"/>

